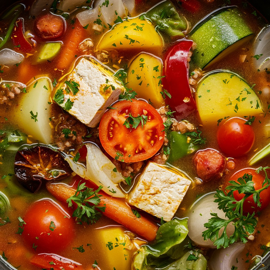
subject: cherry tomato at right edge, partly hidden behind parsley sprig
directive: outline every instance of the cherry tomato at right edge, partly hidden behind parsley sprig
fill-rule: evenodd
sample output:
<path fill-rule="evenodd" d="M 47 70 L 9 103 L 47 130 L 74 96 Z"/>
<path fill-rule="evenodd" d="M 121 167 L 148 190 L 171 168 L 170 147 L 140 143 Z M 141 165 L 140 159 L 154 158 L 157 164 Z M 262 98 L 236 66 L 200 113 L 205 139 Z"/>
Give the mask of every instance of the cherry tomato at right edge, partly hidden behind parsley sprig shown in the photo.
<path fill-rule="evenodd" d="M 227 187 L 229 184 L 229 181 L 235 181 L 239 183 L 237 180 L 238 178 L 241 178 L 244 176 L 244 174 L 251 174 L 252 175 L 252 181 L 254 183 L 255 190 L 258 190 L 262 188 L 262 183 L 264 182 L 265 176 L 263 173 L 257 174 L 256 169 L 253 168 L 245 168 L 242 170 L 237 171 L 235 174 L 231 176 L 231 178 L 224 184 L 224 188 Z M 228 192 L 228 191 L 227 191 Z M 242 198 L 245 196 L 244 194 L 239 194 L 238 191 L 234 191 L 234 198 L 237 201 L 242 200 Z M 270 188 L 266 188 L 260 193 L 260 202 L 261 207 L 258 207 L 258 205 L 254 202 L 252 195 L 250 195 L 243 204 L 243 211 L 246 213 L 252 214 L 253 212 L 257 213 L 258 211 L 263 210 L 265 207 L 268 206 L 270 203 Z"/>

